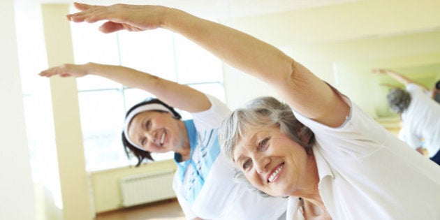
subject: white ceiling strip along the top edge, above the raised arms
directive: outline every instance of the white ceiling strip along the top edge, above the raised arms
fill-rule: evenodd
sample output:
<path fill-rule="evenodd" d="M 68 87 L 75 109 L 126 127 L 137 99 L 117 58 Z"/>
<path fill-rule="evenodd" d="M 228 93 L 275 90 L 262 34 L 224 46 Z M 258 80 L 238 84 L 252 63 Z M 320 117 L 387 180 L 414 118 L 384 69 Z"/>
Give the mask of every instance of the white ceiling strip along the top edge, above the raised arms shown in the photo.
<path fill-rule="evenodd" d="M 113 3 L 151 4 L 179 8 L 203 17 L 246 17 L 280 13 L 349 3 L 359 0 L 76 0 L 81 3 L 110 5 Z M 73 0 L 15 0 L 17 5 L 35 3 L 72 3 Z"/>

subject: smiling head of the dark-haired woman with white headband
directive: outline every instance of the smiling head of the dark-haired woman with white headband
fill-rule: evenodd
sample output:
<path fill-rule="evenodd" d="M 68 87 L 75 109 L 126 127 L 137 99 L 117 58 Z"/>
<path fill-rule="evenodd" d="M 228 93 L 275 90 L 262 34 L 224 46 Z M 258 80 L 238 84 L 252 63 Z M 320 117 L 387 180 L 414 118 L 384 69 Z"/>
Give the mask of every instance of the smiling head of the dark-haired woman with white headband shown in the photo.
<path fill-rule="evenodd" d="M 148 98 L 126 113 L 122 142 L 138 159 L 154 160 L 151 152 L 175 152 L 189 159 L 189 145 L 182 117 L 157 98 Z M 184 132 L 180 132 L 184 131 Z M 182 133 L 182 134 L 180 134 Z M 127 152 L 129 154 L 129 152 Z"/>

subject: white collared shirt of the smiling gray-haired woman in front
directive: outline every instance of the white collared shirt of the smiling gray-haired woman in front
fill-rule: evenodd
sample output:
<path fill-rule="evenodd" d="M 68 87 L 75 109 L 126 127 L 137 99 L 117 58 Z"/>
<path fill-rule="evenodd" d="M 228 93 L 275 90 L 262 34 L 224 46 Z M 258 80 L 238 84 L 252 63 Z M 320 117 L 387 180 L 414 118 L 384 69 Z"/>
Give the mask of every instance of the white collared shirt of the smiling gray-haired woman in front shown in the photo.
<path fill-rule="evenodd" d="M 339 128 L 295 116 L 314 131 L 319 193 L 332 219 L 440 219 L 440 166 L 351 105 Z M 289 198 L 288 219 L 304 219 Z"/>

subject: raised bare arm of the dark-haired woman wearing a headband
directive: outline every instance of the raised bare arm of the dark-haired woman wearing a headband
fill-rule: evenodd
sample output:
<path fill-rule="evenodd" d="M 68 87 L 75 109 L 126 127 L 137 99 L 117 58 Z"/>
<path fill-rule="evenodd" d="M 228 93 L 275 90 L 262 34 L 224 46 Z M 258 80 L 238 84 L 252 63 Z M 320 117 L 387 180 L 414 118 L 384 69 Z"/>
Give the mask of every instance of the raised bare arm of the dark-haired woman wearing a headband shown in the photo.
<path fill-rule="evenodd" d="M 72 76 L 75 78 L 85 75 L 97 75 L 119 82 L 127 87 L 148 91 L 161 101 L 180 110 L 201 112 L 211 107 L 211 103 L 205 94 L 196 89 L 124 66 L 94 63 L 83 65 L 64 64 L 42 71 L 39 75 L 45 77 L 51 77 L 52 75 Z"/>

